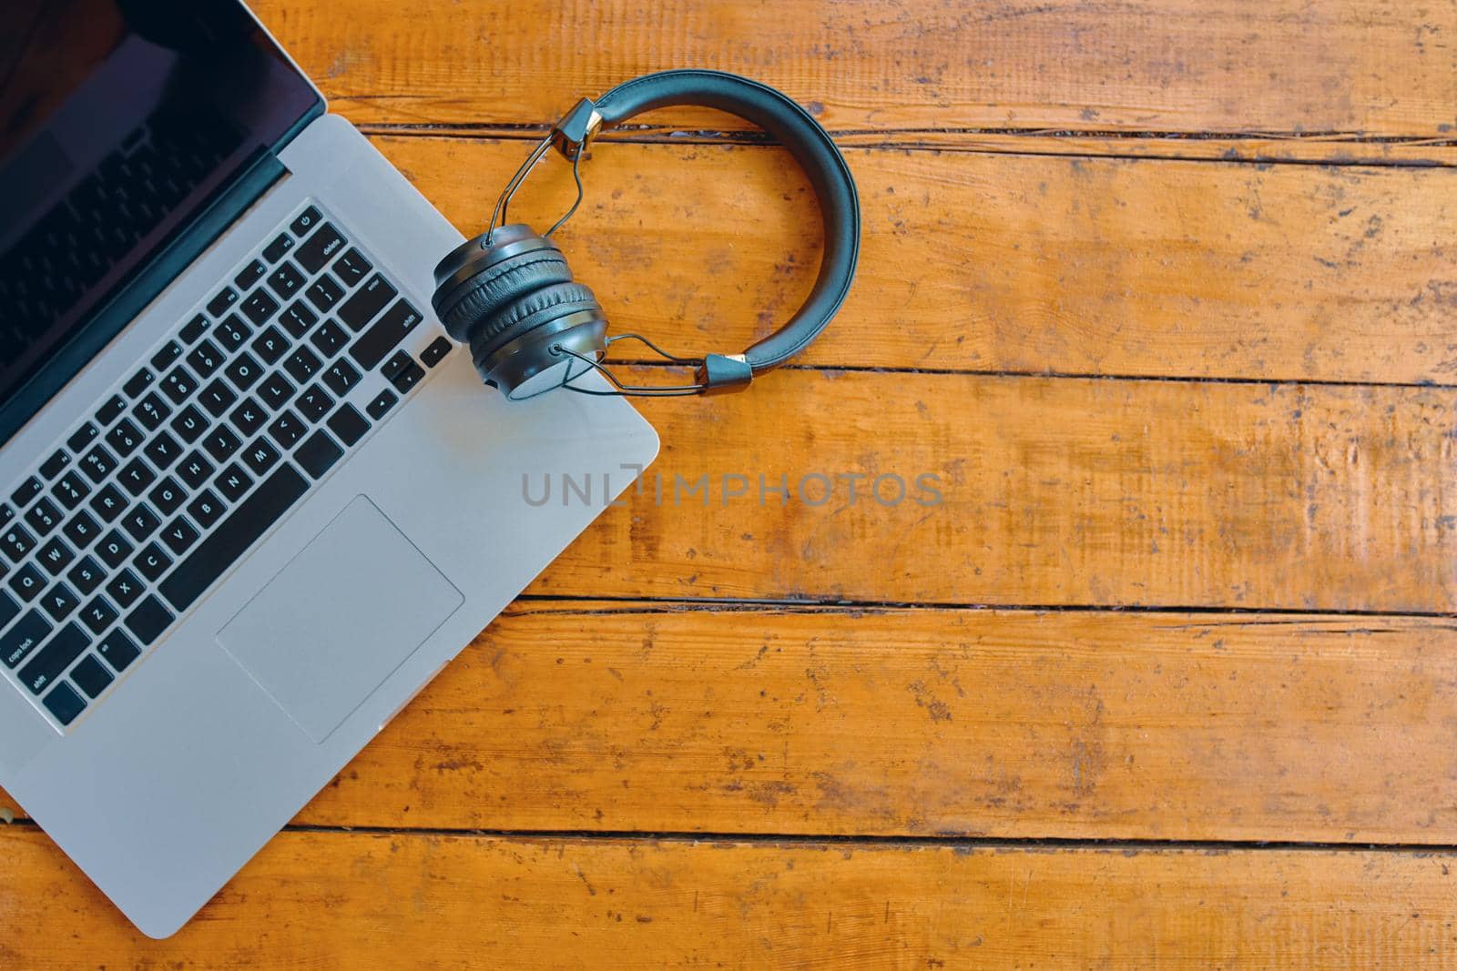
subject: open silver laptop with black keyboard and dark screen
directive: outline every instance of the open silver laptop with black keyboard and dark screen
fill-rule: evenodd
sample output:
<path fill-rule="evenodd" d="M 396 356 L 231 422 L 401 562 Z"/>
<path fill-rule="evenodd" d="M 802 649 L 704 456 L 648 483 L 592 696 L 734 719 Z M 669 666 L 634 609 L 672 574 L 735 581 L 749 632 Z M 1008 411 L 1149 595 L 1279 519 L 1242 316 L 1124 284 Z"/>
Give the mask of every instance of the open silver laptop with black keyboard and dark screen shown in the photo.
<path fill-rule="evenodd" d="M 657 437 L 481 384 L 462 237 L 242 4 L 3 6 L 0 786 L 162 938 Z"/>

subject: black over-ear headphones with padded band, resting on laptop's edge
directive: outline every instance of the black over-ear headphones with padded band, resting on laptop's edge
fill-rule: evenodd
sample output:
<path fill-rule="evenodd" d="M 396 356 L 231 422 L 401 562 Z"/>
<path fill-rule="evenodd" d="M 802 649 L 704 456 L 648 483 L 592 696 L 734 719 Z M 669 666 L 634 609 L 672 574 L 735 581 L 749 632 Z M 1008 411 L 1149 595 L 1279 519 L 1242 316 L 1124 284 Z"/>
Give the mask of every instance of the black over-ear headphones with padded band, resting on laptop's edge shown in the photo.
<path fill-rule="evenodd" d="M 602 128 L 654 108 L 698 105 L 737 115 L 790 150 L 809 176 L 825 220 L 825 253 L 804 304 L 768 338 L 742 354 L 670 355 L 637 333 L 608 336 L 608 317 L 592 290 L 573 280 L 551 240 L 581 205 L 581 154 Z M 545 233 L 507 224 L 506 210 L 530 169 L 549 148 L 571 162 L 577 201 Z M 481 379 L 520 400 L 565 387 L 584 395 L 678 396 L 739 390 L 756 374 L 784 364 L 813 341 L 839 310 L 860 256 L 860 198 L 849 166 L 807 111 L 787 95 L 723 71 L 679 70 L 644 74 L 618 84 L 596 102 L 583 98 L 536 146 L 501 192 L 485 233 L 453 249 L 436 266 L 431 303 L 446 332 L 471 346 Z M 608 346 L 637 339 L 673 364 L 695 368 L 691 384 L 628 386 L 602 360 Z M 600 371 L 610 381 L 584 386 Z"/>

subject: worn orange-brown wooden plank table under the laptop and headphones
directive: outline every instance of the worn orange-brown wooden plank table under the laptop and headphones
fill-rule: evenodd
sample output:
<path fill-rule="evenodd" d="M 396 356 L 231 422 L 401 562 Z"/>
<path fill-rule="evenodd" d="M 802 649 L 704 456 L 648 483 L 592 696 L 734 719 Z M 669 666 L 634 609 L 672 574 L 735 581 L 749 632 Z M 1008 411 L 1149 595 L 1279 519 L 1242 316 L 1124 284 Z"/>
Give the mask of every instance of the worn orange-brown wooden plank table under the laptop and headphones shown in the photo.
<path fill-rule="evenodd" d="M 664 501 L 172 940 L 0 827 L 0 965 L 1453 962 L 1457 3 L 258 13 L 466 233 L 580 95 L 777 84 L 845 147 L 858 282 L 752 392 L 644 403 Z M 648 121 L 561 243 L 619 328 L 737 349 L 813 199 L 733 119 Z"/>

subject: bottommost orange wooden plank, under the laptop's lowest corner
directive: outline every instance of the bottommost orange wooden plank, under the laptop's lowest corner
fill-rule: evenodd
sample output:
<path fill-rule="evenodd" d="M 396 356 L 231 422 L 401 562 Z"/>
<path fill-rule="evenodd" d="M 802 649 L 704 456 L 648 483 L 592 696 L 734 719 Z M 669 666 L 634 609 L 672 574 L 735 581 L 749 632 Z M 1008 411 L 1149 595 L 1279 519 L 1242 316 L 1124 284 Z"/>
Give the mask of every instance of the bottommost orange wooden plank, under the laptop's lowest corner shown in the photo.
<path fill-rule="evenodd" d="M 734 844 L 291 833 L 137 935 L 0 831 L 7 967 L 1110 965 L 1453 961 L 1450 853 Z M 300 919 L 312 914 L 312 919 Z M 85 927 L 85 933 L 77 933 Z"/>

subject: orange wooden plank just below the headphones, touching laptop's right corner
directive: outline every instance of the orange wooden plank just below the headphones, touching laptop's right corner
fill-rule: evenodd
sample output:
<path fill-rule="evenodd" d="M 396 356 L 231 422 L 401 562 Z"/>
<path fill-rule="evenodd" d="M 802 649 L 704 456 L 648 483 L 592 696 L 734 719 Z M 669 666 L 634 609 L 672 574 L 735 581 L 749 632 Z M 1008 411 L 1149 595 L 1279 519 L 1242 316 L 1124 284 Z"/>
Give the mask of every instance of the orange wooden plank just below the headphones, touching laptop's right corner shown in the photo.
<path fill-rule="evenodd" d="M 532 592 L 1457 610 L 1450 390 L 781 371 L 643 412 L 643 494 Z"/>

